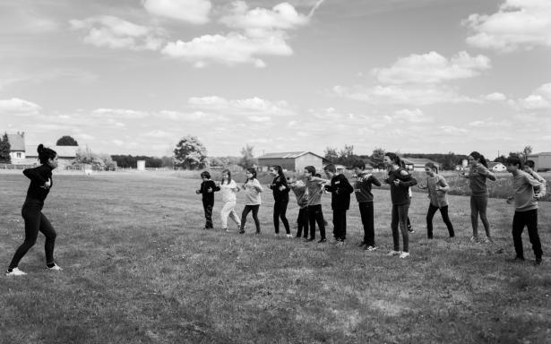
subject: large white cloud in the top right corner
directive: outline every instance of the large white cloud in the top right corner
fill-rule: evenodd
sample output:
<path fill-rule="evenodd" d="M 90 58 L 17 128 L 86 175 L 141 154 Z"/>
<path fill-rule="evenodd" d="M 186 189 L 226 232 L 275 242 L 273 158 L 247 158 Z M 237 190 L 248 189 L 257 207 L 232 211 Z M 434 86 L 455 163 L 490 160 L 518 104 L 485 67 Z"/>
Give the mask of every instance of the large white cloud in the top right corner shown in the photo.
<path fill-rule="evenodd" d="M 463 21 L 472 30 L 467 43 L 511 52 L 521 47 L 551 47 L 551 2 L 506 0 L 497 13 L 474 13 Z"/>

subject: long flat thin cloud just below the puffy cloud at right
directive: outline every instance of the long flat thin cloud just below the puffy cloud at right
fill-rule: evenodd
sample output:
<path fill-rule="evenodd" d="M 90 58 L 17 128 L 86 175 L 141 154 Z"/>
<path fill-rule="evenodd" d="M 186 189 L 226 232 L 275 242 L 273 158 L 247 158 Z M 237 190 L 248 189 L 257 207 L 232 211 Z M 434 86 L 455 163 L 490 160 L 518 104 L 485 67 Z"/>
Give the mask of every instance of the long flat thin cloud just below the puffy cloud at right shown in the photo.
<path fill-rule="evenodd" d="M 457 90 L 440 85 L 425 86 L 335 86 L 332 93 L 346 99 L 366 101 L 371 104 L 405 104 L 409 106 L 425 106 L 439 103 L 463 103 L 479 102 L 477 99 L 470 99 L 462 96 Z"/>

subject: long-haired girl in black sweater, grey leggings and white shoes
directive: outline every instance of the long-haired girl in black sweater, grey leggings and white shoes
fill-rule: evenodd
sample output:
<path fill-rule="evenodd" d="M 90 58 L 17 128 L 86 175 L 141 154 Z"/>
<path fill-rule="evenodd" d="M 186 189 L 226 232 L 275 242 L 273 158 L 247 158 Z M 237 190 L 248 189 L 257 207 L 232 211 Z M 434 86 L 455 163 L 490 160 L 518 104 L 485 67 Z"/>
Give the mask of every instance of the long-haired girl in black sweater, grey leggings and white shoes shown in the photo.
<path fill-rule="evenodd" d="M 400 166 L 400 158 L 394 153 L 384 154 L 384 165 L 390 172 L 385 183 L 391 185 L 392 200 L 392 241 L 393 250 L 387 254 L 389 256 L 400 255 L 400 258 L 409 257 L 409 232 L 408 232 L 408 211 L 409 211 L 409 192 L 410 186 L 417 185 L 417 180 L 409 175 L 409 172 Z M 400 253 L 400 226 L 403 240 L 403 250 Z"/>

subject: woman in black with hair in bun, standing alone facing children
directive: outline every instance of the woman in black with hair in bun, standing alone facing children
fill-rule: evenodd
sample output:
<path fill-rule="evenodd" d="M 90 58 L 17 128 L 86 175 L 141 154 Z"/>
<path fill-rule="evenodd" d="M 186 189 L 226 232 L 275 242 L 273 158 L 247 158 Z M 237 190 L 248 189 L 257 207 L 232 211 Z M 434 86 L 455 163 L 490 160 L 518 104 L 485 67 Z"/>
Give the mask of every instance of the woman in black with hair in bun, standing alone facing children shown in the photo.
<path fill-rule="evenodd" d="M 39 144 L 39 161 L 38 168 L 27 168 L 23 170 L 23 174 L 30 179 L 27 198 L 22 208 L 22 217 L 25 220 L 25 241 L 19 246 L 15 254 L 13 254 L 12 262 L 6 276 L 22 276 L 27 273 L 19 270 L 17 267 L 23 256 L 37 242 L 39 231 L 46 236 L 46 269 L 48 271 L 62 270 L 56 262 L 54 262 L 54 246 L 56 245 L 56 230 L 52 227 L 49 220 L 42 214 L 44 200 L 47 193 L 53 186 L 52 170 L 57 168 L 57 153 L 55 150 L 45 148 Z"/>

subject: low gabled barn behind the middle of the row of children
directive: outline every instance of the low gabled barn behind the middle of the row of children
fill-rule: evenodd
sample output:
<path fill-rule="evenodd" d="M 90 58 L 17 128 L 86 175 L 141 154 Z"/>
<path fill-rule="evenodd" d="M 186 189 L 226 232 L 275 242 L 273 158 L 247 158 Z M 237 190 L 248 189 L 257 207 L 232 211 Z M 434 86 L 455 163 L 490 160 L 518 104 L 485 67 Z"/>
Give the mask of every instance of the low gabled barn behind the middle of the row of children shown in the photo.
<path fill-rule="evenodd" d="M 258 167 L 262 169 L 273 165 L 280 165 L 288 171 L 302 171 L 306 166 L 314 166 L 316 171 L 322 171 L 323 166 L 329 164 L 328 159 L 314 154 L 311 151 L 287 151 L 281 153 L 267 153 L 258 158 Z"/>

